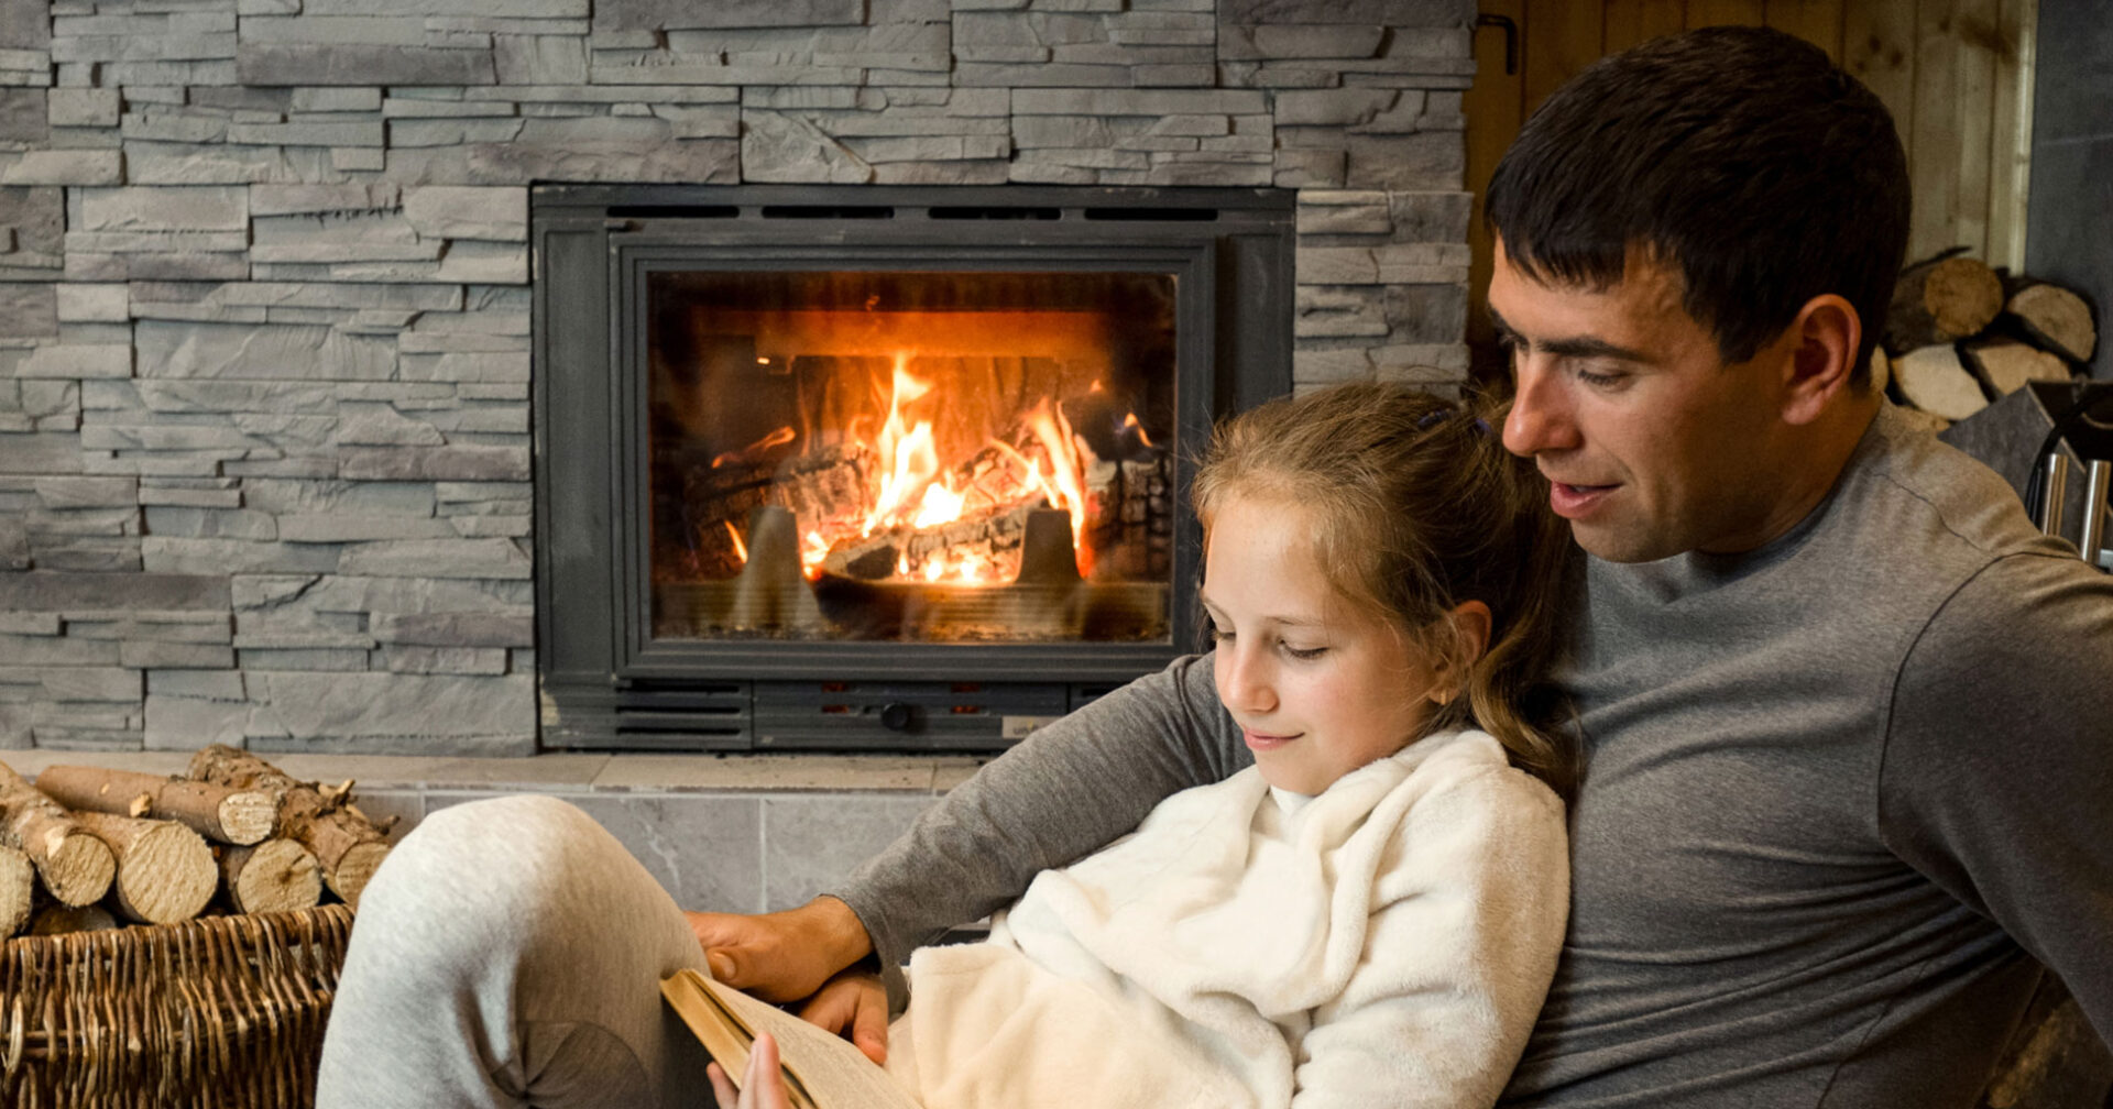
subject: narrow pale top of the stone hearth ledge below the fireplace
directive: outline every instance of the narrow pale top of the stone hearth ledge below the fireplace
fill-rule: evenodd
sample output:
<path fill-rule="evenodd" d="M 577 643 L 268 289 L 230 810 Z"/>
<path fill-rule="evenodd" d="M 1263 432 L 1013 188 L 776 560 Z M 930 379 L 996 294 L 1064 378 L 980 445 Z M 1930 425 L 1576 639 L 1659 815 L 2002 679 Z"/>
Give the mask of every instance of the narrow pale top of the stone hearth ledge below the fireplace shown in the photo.
<path fill-rule="evenodd" d="M 932 754 L 577 754 L 526 758 L 459 758 L 414 754 L 275 754 L 256 752 L 285 773 L 313 782 L 351 777 L 357 792 L 894 792 L 942 794 L 976 773 L 980 758 Z M 6 750 L 23 777 L 44 767 L 116 767 L 182 773 L 190 752 Z"/>

